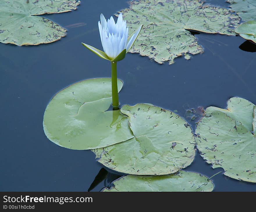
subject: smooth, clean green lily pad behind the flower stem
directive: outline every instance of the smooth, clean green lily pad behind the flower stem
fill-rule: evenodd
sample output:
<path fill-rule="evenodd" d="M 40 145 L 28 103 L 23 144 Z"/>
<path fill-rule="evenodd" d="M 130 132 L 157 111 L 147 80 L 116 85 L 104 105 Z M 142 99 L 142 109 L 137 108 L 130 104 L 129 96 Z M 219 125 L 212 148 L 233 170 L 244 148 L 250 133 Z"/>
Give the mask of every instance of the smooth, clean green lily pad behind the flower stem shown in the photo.
<path fill-rule="evenodd" d="M 118 80 L 118 91 L 122 81 Z M 110 110 L 111 78 L 77 82 L 58 92 L 45 109 L 48 139 L 69 149 L 106 147 L 133 138 L 127 116 Z"/>

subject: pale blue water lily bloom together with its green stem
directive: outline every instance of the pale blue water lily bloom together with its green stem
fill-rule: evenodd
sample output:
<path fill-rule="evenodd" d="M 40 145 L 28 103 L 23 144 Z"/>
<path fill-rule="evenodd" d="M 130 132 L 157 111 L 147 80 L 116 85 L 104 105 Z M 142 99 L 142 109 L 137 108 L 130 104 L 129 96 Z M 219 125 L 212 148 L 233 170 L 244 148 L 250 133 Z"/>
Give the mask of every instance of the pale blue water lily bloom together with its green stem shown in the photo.
<path fill-rule="evenodd" d="M 101 14 L 98 26 L 104 51 L 88 44 L 82 44 L 99 57 L 111 62 L 112 105 L 113 109 L 119 109 L 116 62 L 125 58 L 126 53 L 136 41 L 143 25 L 139 26 L 129 38 L 128 27 L 126 26 L 126 21 L 123 20 L 122 13 L 119 14 L 116 23 L 112 16 L 107 21 L 104 15 Z"/>

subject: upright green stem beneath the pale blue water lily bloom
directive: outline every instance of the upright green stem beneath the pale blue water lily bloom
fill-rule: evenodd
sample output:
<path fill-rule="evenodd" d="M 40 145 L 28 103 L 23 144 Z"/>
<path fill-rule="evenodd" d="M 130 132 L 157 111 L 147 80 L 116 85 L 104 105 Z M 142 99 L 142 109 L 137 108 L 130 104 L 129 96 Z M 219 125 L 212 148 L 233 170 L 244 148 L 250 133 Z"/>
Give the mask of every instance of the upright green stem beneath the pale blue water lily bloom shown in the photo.
<path fill-rule="evenodd" d="M 111 82 L 112 82 L 112 106 L 113 109 L 119 109 L 119 100 L 118 100 L 118 89 L 117 89 L 117 71 L 116 71 L 116 62 L 111 62 Z"/>

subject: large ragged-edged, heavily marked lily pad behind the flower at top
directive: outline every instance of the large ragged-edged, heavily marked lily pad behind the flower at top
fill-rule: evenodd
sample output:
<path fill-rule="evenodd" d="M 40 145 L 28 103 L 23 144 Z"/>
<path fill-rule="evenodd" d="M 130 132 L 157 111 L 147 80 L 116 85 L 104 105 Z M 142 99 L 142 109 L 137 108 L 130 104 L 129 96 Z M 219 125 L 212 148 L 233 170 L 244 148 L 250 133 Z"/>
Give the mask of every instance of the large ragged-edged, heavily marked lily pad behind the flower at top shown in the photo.
<path fill-rule="evenodd" d="M 188 30 L 235 35 L 234 27 L 239 24 L 239 17 L 230 10 L 205 5 L 200 0 L 131 1 L 131 6 L 121 12 L 131 32 L 144 25 L 130 52 L 158 63 L 173 64 L 178 56 L 184 54 L 189 59 L 189 54 L 203 52 Z"/>

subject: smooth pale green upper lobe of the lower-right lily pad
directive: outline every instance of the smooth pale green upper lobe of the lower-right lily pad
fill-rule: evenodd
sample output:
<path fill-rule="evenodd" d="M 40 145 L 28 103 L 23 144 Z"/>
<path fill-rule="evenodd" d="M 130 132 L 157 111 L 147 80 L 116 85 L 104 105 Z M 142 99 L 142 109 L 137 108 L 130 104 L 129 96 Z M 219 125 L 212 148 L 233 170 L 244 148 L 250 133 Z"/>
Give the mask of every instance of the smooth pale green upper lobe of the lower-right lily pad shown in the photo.
<path fill-rule="evenodd" d="M 253 107 L 254 104 L 246 99 L 232 97 L 227 101 L 227 109 L 211 106 L 207 107 L 205 112 L 206 114 L 211 114 L 213 111 L 221 111 L 234 120 L 241 122 L 248 131 L 253 131 Z"/>

